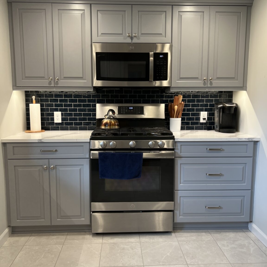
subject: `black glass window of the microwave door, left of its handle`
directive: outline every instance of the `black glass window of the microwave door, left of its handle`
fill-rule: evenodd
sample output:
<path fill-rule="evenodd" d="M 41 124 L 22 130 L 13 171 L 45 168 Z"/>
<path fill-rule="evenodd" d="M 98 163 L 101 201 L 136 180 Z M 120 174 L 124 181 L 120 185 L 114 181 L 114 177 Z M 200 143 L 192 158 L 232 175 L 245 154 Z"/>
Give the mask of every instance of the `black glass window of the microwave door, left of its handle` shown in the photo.
<path fill-rule="evenodd" d="M 149 81 L 149 53 L 96 52 L 99 81 Z"/>

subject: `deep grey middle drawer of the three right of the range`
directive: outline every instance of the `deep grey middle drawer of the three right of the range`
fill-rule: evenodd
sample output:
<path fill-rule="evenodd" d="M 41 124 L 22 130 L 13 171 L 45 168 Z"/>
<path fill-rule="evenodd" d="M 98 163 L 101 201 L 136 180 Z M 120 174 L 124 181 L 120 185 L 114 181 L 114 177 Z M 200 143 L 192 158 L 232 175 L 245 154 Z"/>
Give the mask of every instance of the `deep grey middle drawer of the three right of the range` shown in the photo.
<path fill-rule="evenodd" d="M 250 190 L 252 158 L 175 158 L 175 190 Z"/>

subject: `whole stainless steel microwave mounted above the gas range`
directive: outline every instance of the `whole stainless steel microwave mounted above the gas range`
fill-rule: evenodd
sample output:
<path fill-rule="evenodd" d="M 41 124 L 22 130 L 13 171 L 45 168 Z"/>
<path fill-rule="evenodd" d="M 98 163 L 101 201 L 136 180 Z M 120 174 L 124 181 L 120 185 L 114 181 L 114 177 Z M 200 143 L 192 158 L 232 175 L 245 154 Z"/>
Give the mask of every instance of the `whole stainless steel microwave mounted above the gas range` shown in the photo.
<path fill-rule="evenodd" d="M 170 86 L 171 44 L 93 43 L 93 86 Z"/>

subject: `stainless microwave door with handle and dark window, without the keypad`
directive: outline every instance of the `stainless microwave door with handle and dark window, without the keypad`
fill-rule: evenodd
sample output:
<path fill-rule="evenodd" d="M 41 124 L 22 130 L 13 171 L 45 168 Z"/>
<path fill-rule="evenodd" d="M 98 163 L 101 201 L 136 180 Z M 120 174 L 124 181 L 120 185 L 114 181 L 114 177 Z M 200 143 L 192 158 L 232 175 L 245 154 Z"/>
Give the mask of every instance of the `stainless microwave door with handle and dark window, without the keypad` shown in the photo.
<path fill-rule="evenodd" d="M 151 87 L 155 44 L 93 43 L 93 86 Z"/>

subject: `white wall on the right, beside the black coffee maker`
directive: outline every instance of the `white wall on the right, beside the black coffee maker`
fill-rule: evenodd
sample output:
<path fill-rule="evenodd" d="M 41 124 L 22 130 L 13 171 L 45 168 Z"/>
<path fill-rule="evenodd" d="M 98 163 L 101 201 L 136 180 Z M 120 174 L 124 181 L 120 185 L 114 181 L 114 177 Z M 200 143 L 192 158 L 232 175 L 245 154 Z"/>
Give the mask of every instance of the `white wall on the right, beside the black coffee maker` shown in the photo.
<path fill-rule="evenodd" d="M 247 92 L 234 92 L 239 131 L 261 137 L 258 146 L 252 228 L 267 245 L 267 1 L 254 0 L 250 27 Z"/>

